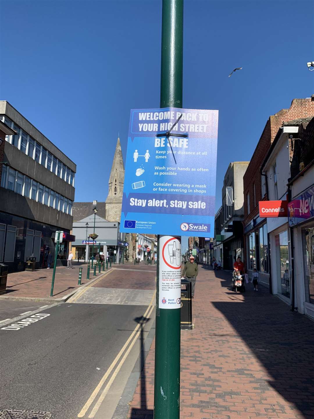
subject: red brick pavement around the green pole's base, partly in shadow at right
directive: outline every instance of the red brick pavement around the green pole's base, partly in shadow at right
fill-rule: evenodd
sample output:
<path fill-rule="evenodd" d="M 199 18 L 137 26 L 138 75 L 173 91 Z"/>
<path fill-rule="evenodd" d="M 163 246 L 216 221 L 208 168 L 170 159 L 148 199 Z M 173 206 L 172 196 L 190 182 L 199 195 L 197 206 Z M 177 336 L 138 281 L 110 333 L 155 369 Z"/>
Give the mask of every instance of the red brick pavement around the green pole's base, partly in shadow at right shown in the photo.
<path fill-rule="evenodd" d="M 314 419 L 313 322 L 263 287 L 235 294 L 230 272 L 199 271 L 195 328 L 181 335 L 180 417 Z M 129 418 L 153 419 L 153 375 L 154 342 Z"/>

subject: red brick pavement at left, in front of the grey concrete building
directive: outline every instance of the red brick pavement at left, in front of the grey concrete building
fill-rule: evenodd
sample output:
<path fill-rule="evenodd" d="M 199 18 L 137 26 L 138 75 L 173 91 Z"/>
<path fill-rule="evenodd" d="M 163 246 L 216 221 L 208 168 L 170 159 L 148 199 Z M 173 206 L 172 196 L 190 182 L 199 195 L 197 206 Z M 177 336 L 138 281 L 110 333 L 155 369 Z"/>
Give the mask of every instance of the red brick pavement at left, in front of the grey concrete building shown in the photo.
<path fill-rule="evenodd" d="M 78 285 L 79 268 L 82 267 L 81 285 L 86 284 L 87 264 L 73 263 L 72 269 L 65 266 L 56 268 L 54 278 L 54 295 L 52 299 L 62 298 L 70 294 Z M 8 274 L 7 293 L 1 297 L 32 297 L 50 299 L 53 269 L 37 269 L 36 271 L 13 272 Z M 98 269 L 97 269 L 98 272 Z M 93 278 L 93 272 L 90 274 Z"/>

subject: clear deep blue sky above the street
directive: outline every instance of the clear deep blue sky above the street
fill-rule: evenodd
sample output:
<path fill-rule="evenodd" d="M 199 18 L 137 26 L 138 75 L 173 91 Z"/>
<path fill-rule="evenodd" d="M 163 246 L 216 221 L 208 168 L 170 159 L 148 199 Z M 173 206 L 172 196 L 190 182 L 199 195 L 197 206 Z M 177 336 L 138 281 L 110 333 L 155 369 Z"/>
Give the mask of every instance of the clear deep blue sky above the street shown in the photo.
<path fill-rule="evenodd" d="M 219 110 L 216 209 L 269 115 L 314 93 L 313 4 L 184 2 L 183 106 Z M 104 201 L 130 109 L 159 106 L 161 0 L 2 0 L 0 16 L 0 98 L 77 164 L 76 201 Z"/>

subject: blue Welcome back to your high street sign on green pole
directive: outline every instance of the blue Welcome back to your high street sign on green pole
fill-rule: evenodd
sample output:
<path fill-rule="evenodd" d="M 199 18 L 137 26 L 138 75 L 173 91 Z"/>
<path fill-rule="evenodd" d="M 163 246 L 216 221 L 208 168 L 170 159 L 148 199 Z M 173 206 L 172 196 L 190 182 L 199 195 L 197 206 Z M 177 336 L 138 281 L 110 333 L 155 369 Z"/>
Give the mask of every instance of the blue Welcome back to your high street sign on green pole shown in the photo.
<path fill-rule="evenodd" d="M 218 111 L 132 109 L 120 231 L 213 237 L 217 136 Z"/>

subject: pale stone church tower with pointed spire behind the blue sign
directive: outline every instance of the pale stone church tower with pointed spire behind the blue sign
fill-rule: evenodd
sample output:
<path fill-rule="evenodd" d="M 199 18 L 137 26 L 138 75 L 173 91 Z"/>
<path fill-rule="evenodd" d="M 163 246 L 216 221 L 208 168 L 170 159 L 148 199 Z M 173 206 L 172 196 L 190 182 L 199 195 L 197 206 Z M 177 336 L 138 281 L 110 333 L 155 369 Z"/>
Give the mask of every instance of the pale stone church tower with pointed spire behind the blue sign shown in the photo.
<path fill-rule="evenodd" d="M 122 150 L 120 138 L 118 137 L 109 177 L 109 191 L 106 199 L 106 220 L 111 222 L 120 222 L 124 173 Z"/>

